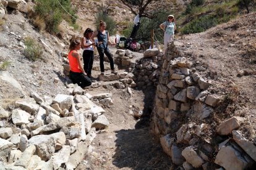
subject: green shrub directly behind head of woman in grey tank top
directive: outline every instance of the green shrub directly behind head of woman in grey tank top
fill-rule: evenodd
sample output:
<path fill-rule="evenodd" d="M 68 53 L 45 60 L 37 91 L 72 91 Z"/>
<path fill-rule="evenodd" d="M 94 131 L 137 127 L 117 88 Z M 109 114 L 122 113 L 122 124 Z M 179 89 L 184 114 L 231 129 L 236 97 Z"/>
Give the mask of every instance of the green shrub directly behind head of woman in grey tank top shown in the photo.
<path fill-rule="evenodd" d="M 116 34 L 116 22 L 108 14 L 99 12 L 96 14 L 94 25 L 98 29 L 100 25 L 100 20 L 106 22 L 106 30 L 108 30 L 109 35 Z"/>

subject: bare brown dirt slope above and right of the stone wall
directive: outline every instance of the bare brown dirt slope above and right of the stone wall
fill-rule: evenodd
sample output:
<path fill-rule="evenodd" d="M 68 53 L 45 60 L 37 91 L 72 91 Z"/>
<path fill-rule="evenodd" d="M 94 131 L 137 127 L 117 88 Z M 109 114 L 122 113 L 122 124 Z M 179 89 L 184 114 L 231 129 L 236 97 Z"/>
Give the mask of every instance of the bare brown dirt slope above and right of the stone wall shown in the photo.
<path fill-rule="evenodd" d="M 216 92 L 234 97 L 223 103 L 228 105 L 229 116 L 242 115 L 249 119 L 243 131 L 250 140 L 256 130 L 255 28 L 256 13 L 252 12 L 203 33 L 182 37 L 195 60 L 205 63 L 211 73 L 208 76 L 219 81 Z"/>

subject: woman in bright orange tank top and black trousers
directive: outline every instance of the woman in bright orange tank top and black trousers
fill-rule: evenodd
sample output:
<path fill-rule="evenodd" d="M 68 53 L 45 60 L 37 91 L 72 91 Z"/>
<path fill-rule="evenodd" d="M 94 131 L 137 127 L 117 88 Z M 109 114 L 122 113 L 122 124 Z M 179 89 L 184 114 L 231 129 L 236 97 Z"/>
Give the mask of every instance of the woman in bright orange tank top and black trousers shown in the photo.
<path fill-rule="evenodd" d="M 88 78 L 87 74 L 85 73 L 85 70 L 83 70 L 81 57 L 79 52 L 81 43 L 78 40 L 71 40 L 70 46 L 69 46 L 69 77 L 72 80 L 74 84 L 78 84 L 80 87 L 84 88 L 87 86 L 90 86 L 92 84 L 92 81 L 90 78 Z"/>

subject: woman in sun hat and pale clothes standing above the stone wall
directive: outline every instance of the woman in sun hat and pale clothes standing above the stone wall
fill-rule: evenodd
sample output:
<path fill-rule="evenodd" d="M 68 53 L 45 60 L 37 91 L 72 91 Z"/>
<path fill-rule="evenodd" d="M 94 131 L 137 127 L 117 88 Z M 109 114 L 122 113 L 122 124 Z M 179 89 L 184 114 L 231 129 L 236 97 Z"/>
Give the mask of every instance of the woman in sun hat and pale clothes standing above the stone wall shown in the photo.
<path fill-rule="evenodd" d="M 164 31 L 164 49 L 167 49 L 168 41 L 174 38 L 174 30 L 176 30 L 174 16 L 168 15 L 167 21 L 161 23 L 160 28 Z"/>

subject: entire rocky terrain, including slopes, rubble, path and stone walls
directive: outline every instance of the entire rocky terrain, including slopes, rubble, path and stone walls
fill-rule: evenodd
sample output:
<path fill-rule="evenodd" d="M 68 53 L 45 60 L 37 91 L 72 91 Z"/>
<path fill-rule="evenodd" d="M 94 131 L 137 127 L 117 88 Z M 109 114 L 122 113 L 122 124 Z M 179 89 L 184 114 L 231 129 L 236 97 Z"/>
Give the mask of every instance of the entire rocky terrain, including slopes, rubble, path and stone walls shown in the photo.
<path fill-rule="evenodd" d="M 27 2 L 0 2 L 0 169 L 255 168 L 255 12 L 165 52 L 111 47 L 117 75 L 95 53 L 81 89 L 67 61 L 78 33 L 39 33 Z M 43 59 L 25 57 L 27 38 Z"/>

